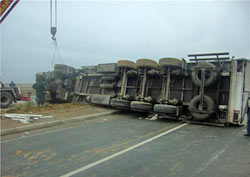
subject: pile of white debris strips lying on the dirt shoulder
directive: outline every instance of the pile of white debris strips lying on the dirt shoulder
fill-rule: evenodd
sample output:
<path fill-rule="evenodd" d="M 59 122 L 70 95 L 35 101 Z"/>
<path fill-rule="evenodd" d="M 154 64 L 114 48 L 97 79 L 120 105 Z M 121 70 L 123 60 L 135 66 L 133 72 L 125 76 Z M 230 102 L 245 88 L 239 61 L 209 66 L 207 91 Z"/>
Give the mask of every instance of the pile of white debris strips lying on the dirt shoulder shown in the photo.
<path fill-rule="evenodd" d="M 9 118 L 12 120 L 17 120 L 21 123 L 30 123 L 33 122 L 34 120 L 53 118 L 53 116 L 43 116 L 36 114 L 3 114 L 2 117 Z"/>

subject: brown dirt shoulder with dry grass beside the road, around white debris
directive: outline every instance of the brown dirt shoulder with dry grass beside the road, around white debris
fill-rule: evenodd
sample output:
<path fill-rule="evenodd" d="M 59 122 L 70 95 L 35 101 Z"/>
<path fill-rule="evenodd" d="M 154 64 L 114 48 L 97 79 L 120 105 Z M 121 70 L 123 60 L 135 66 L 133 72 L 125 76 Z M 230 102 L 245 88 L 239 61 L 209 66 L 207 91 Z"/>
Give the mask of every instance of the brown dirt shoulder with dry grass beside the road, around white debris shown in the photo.
<path fill-rule="evenodd" d="M 93 106 L 93 105 L 88 105 L 88 104 L 72 104 L 72 103 L 53 104 L 53 105 L 49 104 L 43 107 L 32 107 L 32 108 L 29 108 L 28 111 L 25 106 L 23 107 L 24 108 L 21 108 L 21 109 L 11 108 L 11 110 L 13 111 L 1 110 L 1 114 L 5 114 L 5 113 L 40 114 L 44 116 L 53 116 L 53 118 L 39 119 L 31 123 L 21 123 L 19 121 L 15 121 L 11 119 L 1 118 L 1 130 L 35 125 L 39 123 L 56 121 L 56 120 L 72 119 L 72 118 L 79 117 L 79 116 L 92 115 L 92 114 L 103 113 L 103 112 L 108 112 L 108 111 L 113 110 L 111 108 Z"/>

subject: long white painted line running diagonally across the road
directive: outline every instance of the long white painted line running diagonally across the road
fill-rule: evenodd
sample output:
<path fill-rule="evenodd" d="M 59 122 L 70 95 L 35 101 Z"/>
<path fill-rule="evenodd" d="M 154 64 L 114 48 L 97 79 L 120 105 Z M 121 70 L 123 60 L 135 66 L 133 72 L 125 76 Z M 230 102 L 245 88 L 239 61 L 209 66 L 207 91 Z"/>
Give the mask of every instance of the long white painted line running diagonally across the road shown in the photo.
<path fill-rule="evenodd" d="M 145 140 L 145 141 L 143 141 L 143 142 L 141 142 L 141 143 L 138 143 L 138 144 L 136 144 L 136 145 L 134 145 L 134 146 L 131 146 L 131 147 L 129 147 L 129 148 L 127 148 L 127 149 L 124 149 L 124 150 L 122 150 L 122 151 L 120 151 L 120 152 L 117 152 L 117 153 L 115 153 L 115 154 L 113 154 L 113 155 L 110 155 L 110 156 L 108 156 L 108 157 L 105 157 L 105 158 L 103 158 L 103 159 L 101 159 L 101 160 L 98 160 L 98 161 L 96 161 L 96 162 L 90 163 L 90 164 L 88 164 L 88 165 L 86 165 L 86 166 L 83 166 L 83 167 L 81 167 L 81 168 L 78 168 L 78 169 L 76 169 L 76 170 L 73 170 L 73 171 L 71 171 L 71 172 L 69 172 L 69 173 L 67 173 L 67 174 L 64 174 L 64 175 L 60 176 L 60 177 L 70 177 L 70 176 L 73 176 L 73 175 L 75 175 L 75 174 L 77 174 L 77 173 L 80 173 L 80 172 L 82 172 L 82 171 L 85 171 L 85 170 L 87 170 L 87 169 L 89 169 L 89 168 L 92 168 L 92 167 L 94 167 L 94 166 L 97 166 L 97 165 L 99 165 L 99 164 L 101 164 L 101 163 L 103 163 L 103 162 L 106 162 L 106 161 L 108 161 L 108 160 L 110 160 L 110 159 L 113 159 L 113 158 L 115 158 L 115 157 L 117 157 L 117 156 L 120 156 L 120 155 L 122 155 L 122 154 L 124 154 L 124 153 L 126 153 L 126 152 L 129 152 L 129 151 L 131 151 L 131 150 L 133 150 L 133 149 L 135 149 L 135 148 L 138 148 L 138 147 L 140 147 L 140 146 L 142 146 L 142 145 L 144 145 L 144 144 L 146 144 L 146 143 L 149 143 L 149 142 L 151 142 L 151 141 L 154 141 L 154 140 L 156 140 L 156 139 L 158 139 L 158 138 L 160 138 L 160 137 L 162 137 L 162 136 L 164 136 L 164 135 L 167 135 L 167 134 L 169 134 L 169 133 L 171 133 L 171 132 L 173 132 L 173 131 L 175 131 L 175 130 L 177 130 L 177 129 L 180 129 L 180 128 L 186 126 L 187 124 L 188 124 L 188 123 L 184 123 L 184 124 L 182 124 L 182 125 L 179 125 L 179 126 L 177 126 L 177 127 L 175 127 L 175 128 L 172 128 L 172 129 L 170 129 L 170 130 L 168 130 L 168 131 L 165 131 L 165 132 L 163 132 L 163 133 L 161 133 L 161 134 L 159 134 L 159 135 L 156 135 L 156 136 L 154 136 L 154 137 L 152 137 L 152 138 L 150 138 L 150 139 L 147 139 L 147 140 Z"/>

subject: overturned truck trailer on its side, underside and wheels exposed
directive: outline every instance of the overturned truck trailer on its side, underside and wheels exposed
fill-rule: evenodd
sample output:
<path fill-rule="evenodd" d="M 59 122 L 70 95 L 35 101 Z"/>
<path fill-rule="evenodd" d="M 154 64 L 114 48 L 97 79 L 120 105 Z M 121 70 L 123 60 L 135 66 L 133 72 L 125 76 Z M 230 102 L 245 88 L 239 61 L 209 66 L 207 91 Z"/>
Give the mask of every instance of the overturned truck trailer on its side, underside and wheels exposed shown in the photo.
<path fill-rule="evenodd" d="M 74 102 L 156 114 L 184 121 L 237 124 L 250 93 L 250 61 L 228 53 L 193 54 L 82 67 Z M 73 93 L 72 93 L 73 94 Z"/>

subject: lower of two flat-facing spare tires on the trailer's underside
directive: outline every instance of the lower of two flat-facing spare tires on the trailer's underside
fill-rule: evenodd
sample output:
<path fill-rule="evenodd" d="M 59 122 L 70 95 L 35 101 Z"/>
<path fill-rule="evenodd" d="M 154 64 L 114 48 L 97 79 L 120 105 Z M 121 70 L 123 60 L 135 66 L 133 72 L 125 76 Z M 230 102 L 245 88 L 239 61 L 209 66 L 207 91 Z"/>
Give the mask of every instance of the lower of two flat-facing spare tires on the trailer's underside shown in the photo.
<path fill-rule="evenodd" d="M 214 112 L 214 101 L 209 96 L 204 95 L 204 104 L 205 109 L 204 112 L 199 113 L 199 104 L 200 104 L 200 95 L 195 96 L 191 102 L 189 103 L 189 111 L 194 119 L 199 121 L 204 121 L 213 115 Z"/>

